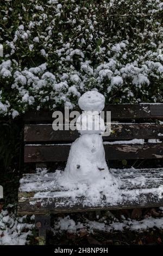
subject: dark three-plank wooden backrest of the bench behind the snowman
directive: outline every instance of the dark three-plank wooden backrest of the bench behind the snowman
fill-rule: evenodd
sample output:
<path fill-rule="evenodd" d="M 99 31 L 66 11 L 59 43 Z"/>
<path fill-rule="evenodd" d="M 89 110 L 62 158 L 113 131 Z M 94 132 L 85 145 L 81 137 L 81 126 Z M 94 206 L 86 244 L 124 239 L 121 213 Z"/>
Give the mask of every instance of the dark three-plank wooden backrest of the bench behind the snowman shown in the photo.
<path fill-rule="evenodd" d="M 103 137 L 107 160 L 163 158 L 163 123 L 155 122 L 163 119 L 163 104 L 108 105 L 104 110 L 111 111 L 112 120 L 111 135 Z M 29 112 L 24 116 L 24 162 L 67 161 L 79 133 L 54 131 L 52 113 Z"/>

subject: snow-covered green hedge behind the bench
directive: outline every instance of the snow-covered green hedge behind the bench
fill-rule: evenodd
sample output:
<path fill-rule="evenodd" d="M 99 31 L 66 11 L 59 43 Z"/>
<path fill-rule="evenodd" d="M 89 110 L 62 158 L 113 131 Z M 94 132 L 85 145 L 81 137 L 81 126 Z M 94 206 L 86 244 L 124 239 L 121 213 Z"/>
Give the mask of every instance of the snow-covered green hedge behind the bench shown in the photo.
<path fill-rule="evenodd" d="M 160 0 L 3 0 L 0 114 L 106 103 L 162 102 Z"/>

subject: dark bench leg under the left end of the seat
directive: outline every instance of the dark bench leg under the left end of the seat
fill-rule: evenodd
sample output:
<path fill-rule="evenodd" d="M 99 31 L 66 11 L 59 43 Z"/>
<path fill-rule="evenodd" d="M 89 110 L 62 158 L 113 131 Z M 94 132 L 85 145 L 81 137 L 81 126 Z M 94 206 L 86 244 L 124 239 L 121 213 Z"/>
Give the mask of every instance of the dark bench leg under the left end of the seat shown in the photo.
<path fill-rule="evenodd" d="M 50 215 L 36 215 L 35 228 L 39 229 L 39 245 L 46 245 L 46 233 L 51 227 Z"/>

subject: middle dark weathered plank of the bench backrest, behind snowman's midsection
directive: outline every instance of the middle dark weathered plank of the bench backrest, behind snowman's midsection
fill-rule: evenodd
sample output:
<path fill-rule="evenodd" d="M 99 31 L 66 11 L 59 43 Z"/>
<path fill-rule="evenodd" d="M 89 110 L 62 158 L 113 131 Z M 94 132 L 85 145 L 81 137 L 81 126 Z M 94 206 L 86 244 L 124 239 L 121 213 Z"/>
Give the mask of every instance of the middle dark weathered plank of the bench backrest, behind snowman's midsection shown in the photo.
<path fill-rule="evenodd" d="M 25 125 L 25 142 L 56 142 L 74 141 L 79 137 L 75 131 L 54 131 L 51 124 Z M 156 124 L 111 124 L 110 136 L 103 137 L 103 141 L 124 140 L 124 139 L 154 139 L 163 138 L 163 125 Z"/>

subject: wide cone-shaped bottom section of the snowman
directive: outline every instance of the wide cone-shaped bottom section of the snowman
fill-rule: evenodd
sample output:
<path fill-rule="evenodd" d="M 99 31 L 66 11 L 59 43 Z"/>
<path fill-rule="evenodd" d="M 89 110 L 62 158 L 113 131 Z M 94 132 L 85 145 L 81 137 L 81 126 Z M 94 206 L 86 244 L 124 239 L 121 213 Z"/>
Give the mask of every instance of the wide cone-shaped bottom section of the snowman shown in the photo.
<path fill-rule="evenodd" d="M 70 182 L 92 182 L 92 184 L 99 179 L 102 181 L 106 179 L 111 185 L 112 179 L 105 162 L 100 135 L 84 134 L 72 143 L 64 178 Z"/>

